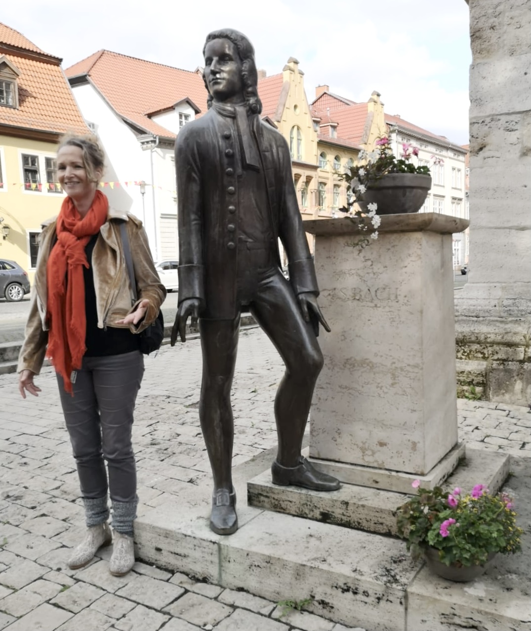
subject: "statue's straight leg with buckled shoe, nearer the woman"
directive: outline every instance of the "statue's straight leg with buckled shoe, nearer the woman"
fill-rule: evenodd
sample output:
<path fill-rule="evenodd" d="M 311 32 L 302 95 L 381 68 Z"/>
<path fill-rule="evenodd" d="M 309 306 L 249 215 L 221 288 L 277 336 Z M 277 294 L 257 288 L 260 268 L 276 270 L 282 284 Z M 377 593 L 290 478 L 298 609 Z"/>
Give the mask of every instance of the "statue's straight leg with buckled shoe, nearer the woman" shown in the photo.
<path fill-rule="evenodd" d="M 239 329 L 239 315 L 234 320 L 199 320 L 203 356 L 199 420 L 214 478 L 210 528 L 218 534 L 238 529 L 232 485 L 234 420 L 230 389 Z"/>

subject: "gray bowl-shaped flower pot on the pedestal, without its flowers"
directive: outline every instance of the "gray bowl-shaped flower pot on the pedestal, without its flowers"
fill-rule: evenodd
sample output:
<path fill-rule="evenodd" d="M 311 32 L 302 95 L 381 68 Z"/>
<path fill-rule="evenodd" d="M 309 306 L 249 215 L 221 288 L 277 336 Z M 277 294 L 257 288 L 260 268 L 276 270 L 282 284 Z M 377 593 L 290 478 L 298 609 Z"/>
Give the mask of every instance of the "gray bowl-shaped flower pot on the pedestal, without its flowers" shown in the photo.
<path fill-rule="evenodd" d="M 431 175 L 417 173 L 391 173 L 370 184 L 363 194 L 361 208 L 376 202 L 378 215 L 417 213 L 431 189 Z"/>

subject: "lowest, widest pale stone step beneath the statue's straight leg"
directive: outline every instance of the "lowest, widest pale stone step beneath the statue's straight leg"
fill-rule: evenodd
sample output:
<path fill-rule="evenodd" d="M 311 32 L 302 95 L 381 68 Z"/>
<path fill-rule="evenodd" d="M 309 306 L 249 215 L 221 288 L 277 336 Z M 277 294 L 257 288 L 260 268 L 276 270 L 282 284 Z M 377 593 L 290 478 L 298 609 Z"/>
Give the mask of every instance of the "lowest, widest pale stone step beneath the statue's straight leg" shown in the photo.
<path fill-rule="evenodd" d="M 486 480 L 482 471 L 491 455 L 483 451 L 463 468 L 465 489 Z M 137 557 L 272 601 L 312 598 L 305 608 L 311 613 L 371 631 L 529 630 L 525 563 L 515 570 L 503 557 L 500 569 L 489 566 L 479 581 L 452 584 L 428 574 L 423 562 L 412 562 L 398 539 L 245 505 L 246 480 L 263 472 L 272 457 L 233 469 L 243 504 L 235 534 L 209 529 L 206 480 L 136 520 Z M 499 480 L 503 476 L 499 471 Z M 499 485 L 495 475 L 491 484 Z"/>

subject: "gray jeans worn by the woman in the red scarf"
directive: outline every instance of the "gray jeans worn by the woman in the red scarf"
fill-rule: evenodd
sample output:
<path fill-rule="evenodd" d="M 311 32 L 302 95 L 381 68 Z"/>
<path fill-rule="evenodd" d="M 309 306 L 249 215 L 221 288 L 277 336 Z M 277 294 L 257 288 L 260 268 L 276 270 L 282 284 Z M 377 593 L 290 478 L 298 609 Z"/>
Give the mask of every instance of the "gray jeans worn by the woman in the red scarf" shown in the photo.
<path fill-rule="evenodd" d="M 131 431 L 143 375 L 140 351 L 84 357 L 73 383 L 73 396 L 64 391 L 62 377 L 57 375 L 83 498 L 107 498 L 109 490 L 113 502 L 136 503 Z"/>

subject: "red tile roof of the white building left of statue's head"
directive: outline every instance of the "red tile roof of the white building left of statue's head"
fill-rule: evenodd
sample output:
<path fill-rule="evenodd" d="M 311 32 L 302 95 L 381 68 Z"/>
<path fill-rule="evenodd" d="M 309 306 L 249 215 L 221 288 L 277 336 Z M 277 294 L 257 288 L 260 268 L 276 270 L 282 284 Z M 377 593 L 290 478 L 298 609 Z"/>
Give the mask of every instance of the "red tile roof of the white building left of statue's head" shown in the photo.
<path fill-rule="evenodd" d="M 192 71 L 98 50 L 65 73 L 68 78 L 86 74 L 122 118 L 156 136 L 175 138 L 146 112 L 159 111 L 187 97 L 202 113 L 206 112 L 207 91 L 202 76 Z"/>

